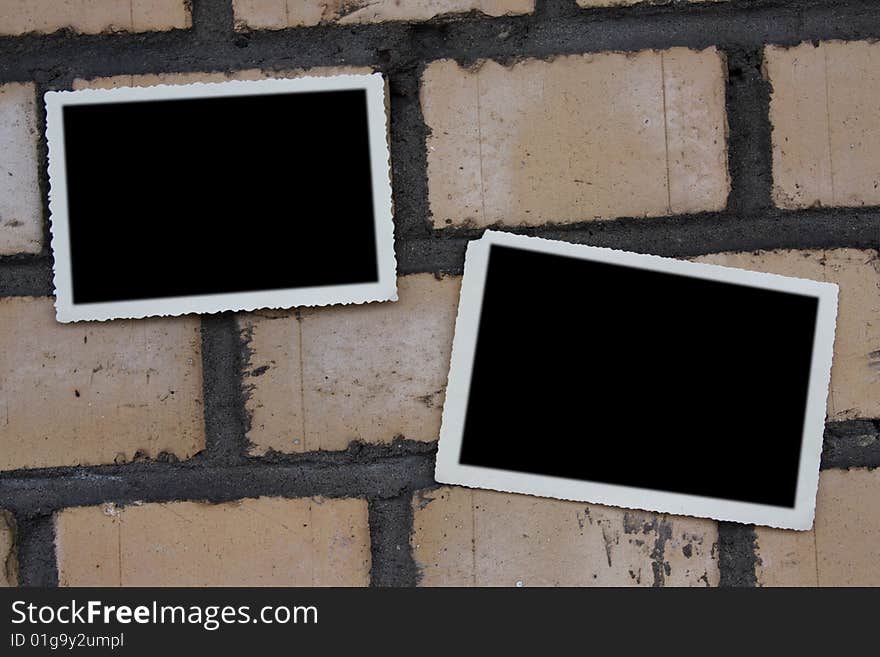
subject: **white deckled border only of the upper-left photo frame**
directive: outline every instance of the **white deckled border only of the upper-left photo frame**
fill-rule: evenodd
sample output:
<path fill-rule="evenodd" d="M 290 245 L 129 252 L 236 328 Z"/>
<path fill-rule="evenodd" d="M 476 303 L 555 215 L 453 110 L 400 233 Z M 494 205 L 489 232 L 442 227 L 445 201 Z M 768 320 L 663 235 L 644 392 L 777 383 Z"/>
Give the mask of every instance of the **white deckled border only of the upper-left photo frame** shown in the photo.
<path fill-rule="evenodd" d="M 65 107 L 96 103 L 358 89 L 366 91 L 367 96 L 370 169 L 373 188 L 373 228 L 376 240 L 378 281 L 100 303 L 73 302 L 64 122 L 62 120 Z M 394 256 L 391 159 L 388 148 L 385 96 L 385 81 L 379 73 L 46 92 L 44 100 L 46 103 L 46 138 L 49 147 L 49 215 L 52 252 L 55 256 L 55 310 L 58 321 L 137 319 L 187 313 L 214 313 L 226 310 L 248 311 L 258 308 L 292 308 L 296 306 L 359 304 L 370 301 L 396 301 L 397 262 Z"/>

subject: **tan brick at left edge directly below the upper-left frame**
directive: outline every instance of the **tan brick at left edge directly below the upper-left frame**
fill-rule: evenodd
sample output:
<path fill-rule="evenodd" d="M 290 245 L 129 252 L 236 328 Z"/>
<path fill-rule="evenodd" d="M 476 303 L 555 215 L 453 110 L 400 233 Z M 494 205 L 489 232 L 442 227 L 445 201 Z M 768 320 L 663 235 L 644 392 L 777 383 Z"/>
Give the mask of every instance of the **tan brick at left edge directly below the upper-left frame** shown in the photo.
<path fill-rule="evenodd" d="M 203 449 L 199 326 L 59 324 L 49 298 L 0 300 L 0 469 Z"/>

